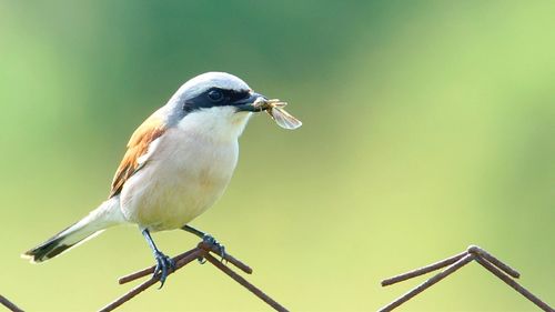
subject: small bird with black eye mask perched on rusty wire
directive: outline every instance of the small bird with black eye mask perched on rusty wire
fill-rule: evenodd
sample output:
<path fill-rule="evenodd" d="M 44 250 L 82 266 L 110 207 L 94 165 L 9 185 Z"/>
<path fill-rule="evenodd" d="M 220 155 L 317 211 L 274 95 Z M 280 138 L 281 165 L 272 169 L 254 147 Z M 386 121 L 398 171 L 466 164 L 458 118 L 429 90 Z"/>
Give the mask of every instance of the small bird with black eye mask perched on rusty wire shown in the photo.
<path fill-rule="evenodd" d="M 239 158 L 239 137 L 266 99 L 225 72 L 199 74 L 133 132 L 115 171 L 108 200 L 73 225 L 24 252 L 33 263 L 50 260 L 103 230 L 137 224 L 152 250 L 161 285 L 174 269 L 151 233 L 181 229 L 216 246 L 189 223 L 221 198 Z"/>

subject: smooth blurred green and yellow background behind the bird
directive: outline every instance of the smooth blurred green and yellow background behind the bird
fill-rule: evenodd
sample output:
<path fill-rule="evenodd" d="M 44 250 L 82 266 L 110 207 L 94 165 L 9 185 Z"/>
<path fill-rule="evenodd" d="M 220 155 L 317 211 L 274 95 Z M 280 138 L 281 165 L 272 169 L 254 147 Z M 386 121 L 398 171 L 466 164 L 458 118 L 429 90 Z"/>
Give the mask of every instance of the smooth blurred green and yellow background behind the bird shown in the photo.
<path fill-rule="evenodd" d="M 153 263 L 122 227 L 19 254 L 105 199 L 133 129 L 181 83 L 232 72 L 290 102 L 260 115 L 234 179 L 192 223 L 293 311 L 375 311 L 380 280 L 478 244 L 555 304 L 554 1 L 0 1 L 0 292 L 92 311 Z M 175 254 L 196 243 L 155 235 Z M 121 311 L 264 311 L 210 265 Z M 535 311 L 471 264 L 403 311 Z"/>

